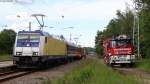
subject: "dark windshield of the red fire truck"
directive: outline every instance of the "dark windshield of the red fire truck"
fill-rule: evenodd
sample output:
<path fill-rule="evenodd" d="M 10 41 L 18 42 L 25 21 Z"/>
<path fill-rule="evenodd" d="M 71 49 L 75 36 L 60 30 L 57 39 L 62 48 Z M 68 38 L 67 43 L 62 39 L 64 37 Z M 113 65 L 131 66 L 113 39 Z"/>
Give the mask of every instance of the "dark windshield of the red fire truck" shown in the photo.
<path fill-rule="evenodd" d="M 112 47 L 128 47 L 131 44 L 131 39 L 112 40 Z"/>

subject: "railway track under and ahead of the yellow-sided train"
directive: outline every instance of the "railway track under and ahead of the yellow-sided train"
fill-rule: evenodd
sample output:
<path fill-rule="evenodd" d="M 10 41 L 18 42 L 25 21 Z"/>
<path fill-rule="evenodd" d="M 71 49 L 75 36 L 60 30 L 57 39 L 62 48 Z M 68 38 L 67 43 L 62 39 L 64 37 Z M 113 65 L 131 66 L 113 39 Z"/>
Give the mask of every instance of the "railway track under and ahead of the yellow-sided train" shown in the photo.
<path fill-rule="evenodd" d="M 20 69 L 17 67 L 14 68 L 10 68 L 7 69 L 7 67 L 3 67 L 2 69 L 6 70 L 2 70 L 0 72 L 0 84 L 5 82 L 11 81 L 11 80 L 16 80 L 19 77 L 23 77 L 25 75 L 30 75 L 32 73 L 36 73 L 36 72 L 40 72 L 43 73 L 47 70 L 52 70 L 53 68 L 59 68 L 61 67 L 61 65 L 66 65 L 66 63 L 57 63 L 57 64 L 53 64 L 52 66 L 49 67 L 44 67 L 44 68 L 40 68 L 40 69 Z"/>

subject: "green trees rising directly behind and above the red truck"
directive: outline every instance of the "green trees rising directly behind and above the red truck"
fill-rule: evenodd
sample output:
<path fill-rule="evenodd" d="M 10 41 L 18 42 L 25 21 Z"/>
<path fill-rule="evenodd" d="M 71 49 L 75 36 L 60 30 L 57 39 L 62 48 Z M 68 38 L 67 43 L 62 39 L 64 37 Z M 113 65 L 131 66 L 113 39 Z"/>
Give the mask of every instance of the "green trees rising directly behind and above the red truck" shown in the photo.
<path fill-rule="evenodd" d="M 134 14 L 127 7 L 125 12 L 117 11 L 117 18 L 110 20 L 106 29 L 98 31 L 95 37 L 95 49 L 99 56 L 103 56 L 102 41 L 105 38 L 112 37 L 118 34 L 132 35 Z"/>

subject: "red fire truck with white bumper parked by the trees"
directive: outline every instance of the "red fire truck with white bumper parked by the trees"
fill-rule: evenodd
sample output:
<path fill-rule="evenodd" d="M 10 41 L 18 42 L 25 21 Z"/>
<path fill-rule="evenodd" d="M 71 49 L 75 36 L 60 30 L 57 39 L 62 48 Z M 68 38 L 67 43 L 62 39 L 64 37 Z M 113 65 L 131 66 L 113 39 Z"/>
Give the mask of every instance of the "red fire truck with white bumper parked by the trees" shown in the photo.
<path fill-rule="evenodd" d="M 117 35 L 102 41 L 104 63 L 107 65 L 133 66 L 136 60 L 135 46 L 128 35 Z"/>

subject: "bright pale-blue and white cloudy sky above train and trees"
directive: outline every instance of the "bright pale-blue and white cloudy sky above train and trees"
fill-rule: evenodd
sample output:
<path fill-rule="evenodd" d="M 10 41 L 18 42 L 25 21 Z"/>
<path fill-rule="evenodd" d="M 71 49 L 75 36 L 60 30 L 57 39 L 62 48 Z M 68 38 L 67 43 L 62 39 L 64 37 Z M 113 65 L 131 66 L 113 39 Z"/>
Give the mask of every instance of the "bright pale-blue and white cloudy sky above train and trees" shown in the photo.
<path fill-rule="evenodd" d="M 30 3 L 28 0 L 20 1 Z M 125 2 L 132 3 L 131 0 L 47 0 L 48 3 L 46 5 L 41 2 L 37 0 L 36 3 L 30 6 L 24 4 L 15 4 L 15 6 L 14 4 L 12 6 L 6 5 L 6 7 L 1 6 L 1 9 L 5 7 L 7 10 L 2 10 L 3 14 L 0 17 L 3 18 L 4 15 L 11 14 L 6 17 L 8 22 L 10 22 L 9 24 L 12 24 L 8 28 L 16 31 L 28 30 L 29 20 L 34 20 L 32 24 L 34 30 L 38 29 L 38 24 L 35 24 L 37 21 L 35 21 L 35 18 L 32 19 L 30 15 L 32 13 L 43 13 L 48 18 L 48 20 L 44 19 L 46 25 L 53 25 L 55 27 L 54 29 L 45 29 L 46 31 L 68 36 L 69 34 L 66 35 L 66 33 L 70 33 L 71 30 L 62 32 L 60 28 L 67 27 L 68 25 L 75 26 L 76 30 L 72 32 L 84 33 L 81 37 L 81 44 L 84 46 L 94 46 L 96 31 L 105 27 L 109 20 L 115 17 L 116 10 L 125 10 Z M 1 19 L 1 22 L 4 22 L 4 20 Z"/>

